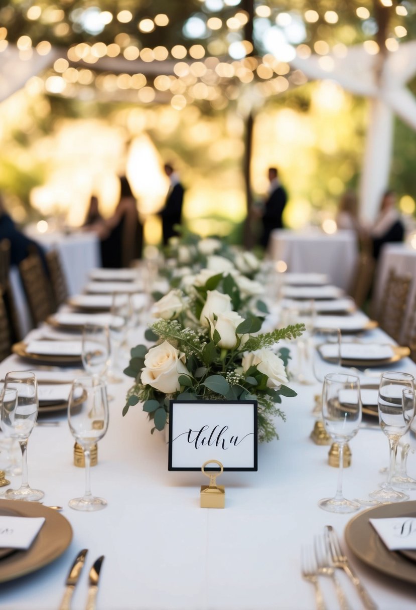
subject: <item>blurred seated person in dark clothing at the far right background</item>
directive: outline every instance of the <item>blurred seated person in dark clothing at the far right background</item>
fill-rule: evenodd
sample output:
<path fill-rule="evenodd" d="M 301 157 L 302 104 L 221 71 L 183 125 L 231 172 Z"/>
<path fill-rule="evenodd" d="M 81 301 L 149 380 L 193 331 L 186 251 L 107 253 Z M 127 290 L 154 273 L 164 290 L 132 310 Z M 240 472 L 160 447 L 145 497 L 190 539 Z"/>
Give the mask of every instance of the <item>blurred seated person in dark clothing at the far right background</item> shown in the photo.
<path fill-rule="evenodd" d="M 379 215 L 370 230 L 373 256 L 378 259 L 382 246 L 387 242 L 403 242 L 404 224 L 396 209 L 396 193 L 387 190 L 381 199 Z"/>

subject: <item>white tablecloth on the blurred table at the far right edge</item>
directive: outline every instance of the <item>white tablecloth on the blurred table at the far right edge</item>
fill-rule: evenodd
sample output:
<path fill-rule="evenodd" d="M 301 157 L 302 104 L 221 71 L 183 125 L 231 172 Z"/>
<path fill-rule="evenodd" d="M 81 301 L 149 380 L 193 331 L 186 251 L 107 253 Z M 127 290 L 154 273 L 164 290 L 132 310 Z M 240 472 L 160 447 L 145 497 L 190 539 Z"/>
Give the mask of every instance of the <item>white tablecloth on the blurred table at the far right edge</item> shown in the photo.
<path fill-rule="evenodd" d="M 412 276 L 407 312 L 402 325 L 401 340 L 403 341 L 407 337 L 406 331 L 409 331 L 408 324 L 412 322 L 416 302 L 416 250 L 406 243 L 386 243 L 383 247 L 375 282 L 373 298 L 374 315 L 378 313 L 384 285 L 391 269 L 395 270 L 399 275 L 410 273 Z"/>

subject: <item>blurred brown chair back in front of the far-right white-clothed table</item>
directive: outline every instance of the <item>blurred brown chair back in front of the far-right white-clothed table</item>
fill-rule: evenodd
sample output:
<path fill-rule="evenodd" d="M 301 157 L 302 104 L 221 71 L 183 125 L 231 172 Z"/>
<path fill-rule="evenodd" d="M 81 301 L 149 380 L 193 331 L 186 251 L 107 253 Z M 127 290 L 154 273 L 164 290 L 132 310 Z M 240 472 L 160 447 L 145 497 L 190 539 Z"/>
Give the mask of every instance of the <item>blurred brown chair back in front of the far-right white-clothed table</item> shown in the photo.
<path fill-rule="evenodd" d="M 401 276 L 397 275 L 394 269 L 390 269 L 383 287 L 378 323 L 380 328 L 397 342 L 400 342 L 411 281 L 411 274 Z"/>

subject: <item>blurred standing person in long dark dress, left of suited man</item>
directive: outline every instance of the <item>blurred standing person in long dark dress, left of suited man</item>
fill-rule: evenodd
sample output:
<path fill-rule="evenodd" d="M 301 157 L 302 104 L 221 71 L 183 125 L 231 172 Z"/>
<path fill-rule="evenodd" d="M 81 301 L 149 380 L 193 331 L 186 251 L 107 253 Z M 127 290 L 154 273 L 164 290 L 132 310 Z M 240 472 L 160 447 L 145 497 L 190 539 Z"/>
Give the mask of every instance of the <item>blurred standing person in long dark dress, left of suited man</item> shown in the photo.
<path fill-rule="evenodd" d="M 113 216 L 98 221 L 91 228 L 101 239 L 103 267 L 129 267 L 132 260 L 142 257 L 143 226 L 126 176 L 120 178 L 120 201 Z"/>

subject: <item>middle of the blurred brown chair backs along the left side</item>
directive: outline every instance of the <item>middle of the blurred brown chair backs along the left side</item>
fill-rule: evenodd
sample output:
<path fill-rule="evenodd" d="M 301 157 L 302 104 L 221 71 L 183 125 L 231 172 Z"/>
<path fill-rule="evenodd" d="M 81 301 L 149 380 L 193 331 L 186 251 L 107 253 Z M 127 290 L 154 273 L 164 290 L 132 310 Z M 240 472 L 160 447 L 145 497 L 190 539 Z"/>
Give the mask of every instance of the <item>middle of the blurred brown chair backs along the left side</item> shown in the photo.
<path fill-rule="evenodd" d="M 56 312 L 51 282 L 46 276 L 38 254 L 29 254 L 19 265 L 20 277 L 26 293 L 30 315 L 35 326 Z"/>

